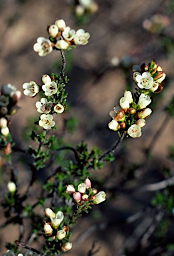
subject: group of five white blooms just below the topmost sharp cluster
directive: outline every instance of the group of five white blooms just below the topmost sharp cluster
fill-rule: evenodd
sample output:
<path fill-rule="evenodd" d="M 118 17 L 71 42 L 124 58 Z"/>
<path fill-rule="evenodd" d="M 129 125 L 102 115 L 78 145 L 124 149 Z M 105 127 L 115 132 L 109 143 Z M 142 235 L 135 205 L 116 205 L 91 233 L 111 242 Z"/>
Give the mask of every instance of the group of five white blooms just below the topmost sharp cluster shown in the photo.
<path fill-rule="evenodd" d="M 45 96 L 49 97 L 49 99 L 45 97 L 41 98 L 40 101 L 35 103 L 35 106 L 37 107 L 37 111 L 42 114 L 39 125 L 44 129 L 51 129 L 51 127 L 55 126 L 55 121 L 53 121 L 53 115 L 51 115 L 51 113 L 63 113 L 65 107 L 59 99 L 59 84 L 54 81 L 54 77 L 43 75 L 42 82 L 42 86 L 37 85 L 37 83 L 33 81 L 24 83 L 23 93 L 30 97 L 35 97 L 39 91 L 42 91 Z"/>

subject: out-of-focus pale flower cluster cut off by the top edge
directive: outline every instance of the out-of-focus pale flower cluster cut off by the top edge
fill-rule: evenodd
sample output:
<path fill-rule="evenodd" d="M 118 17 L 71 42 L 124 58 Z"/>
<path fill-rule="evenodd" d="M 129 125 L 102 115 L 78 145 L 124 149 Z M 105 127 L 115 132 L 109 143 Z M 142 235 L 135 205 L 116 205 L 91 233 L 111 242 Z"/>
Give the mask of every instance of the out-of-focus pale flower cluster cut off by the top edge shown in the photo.
<path fill-rule="evenodd" d="M 78 0 L 75 1 L 75 15 L 82 16 L 85 13 L 96 13 L 99 5 L 93 0 Z"/>

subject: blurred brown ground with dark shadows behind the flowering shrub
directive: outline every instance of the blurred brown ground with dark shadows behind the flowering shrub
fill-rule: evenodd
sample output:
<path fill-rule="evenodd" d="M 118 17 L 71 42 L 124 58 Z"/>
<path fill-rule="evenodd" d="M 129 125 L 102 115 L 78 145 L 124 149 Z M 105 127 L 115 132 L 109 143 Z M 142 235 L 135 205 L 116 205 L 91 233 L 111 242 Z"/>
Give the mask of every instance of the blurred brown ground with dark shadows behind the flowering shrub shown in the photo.
<path fill-rule="evenodd" d="M 111 193 L 114 196 L 110 198 L 108 204 L 106 201 L 101 207 L 94 207 L 90 217 L 84 216 L 79 219 L 72 237 L 73 249 L 67 253 L 69 256 L 87 255 L 94 240 L 97 240 L 97 245 L 101 247 L 97 254 L 100 256 L 123 255 L 125 247 L 136 246 L 136 239 L 131 241 L 131 238 L 138 225 L 121 224 L 121 220 L 141 211 L 149 204 L 153 193 L 139 193 L 136 189 L 145 183 L 163 180 L 161 169 L 167 163 L 167 148 L 173 143 L 174 137 L 173 120 L 169 119 L 153 144 L 151 151 L 153 158 L 143 162 L 145 157 L 143 148 L 149 146 L 163 124 L 166 116 L 163 109 L 173 95 L 174 51 L 172 47 L 166 48 L 161 37 L 157 33 L 146 31 L 142 24 L 154 14 L 168 15 L 170 24 L 164 33 L 174 40 L 174 17 L 169 11 L 169 4 L 172 1 L 98 0 L 96 2 L 99 5 L 97 13 L 91 15 L 85 25 L 80 25 L 91 34 L 89 43 L 73 49 L 71 69 L 67 74 L 70 79 L 67 85 L 70 113 L 77 117 L 78 125 L 75 133 L 67 135 L 65 141 L 73 145 L 86 141 L 89 147 L 96 145 L 102 151 L 107 151 L 117 141 L 117 133 L 107 128 L 107 123 L 110 121 L 109 111 L 118 104 L 128 82 L 130 87 L 134 87 L 131 79 L 131 66 L 134 63 L 141 65 L 151 60 L 156 61 L 167 73 L 168 83 L 163 82 L 164 86 L 165 83 L 167 86 L 163 90 L 163 96 L 159 97 L 154 113 L 142 129 L 142 137 L 126 139 L 121 151 L 116 153 L 115 162 L 96 172 L 99 178 L 106 179 L 105 189 L 108 189 L 109 195 L 109 191 L 111 192 L 112 189 L 115 191 L 118 185 L 120 187 L 126 169 L 129 169 L 133 163 L 137 165 L 144 163 L 141 168 L 133 170 L 136 179 L 130 179 L 130 182 L 126 183 L 125 188 L 132 189 L 132 192 Z M 23 83 L 35 81 L 41 84 L 41 76 L 51 73 L 53 64 L 60 63 L 59 52 L 39 57 L 33 51 L 37 37 L 48 37 L 45 28 L 53 24 L 56 18 L 64 19 L 73 29 L 79 28 L 68 1 L 0 0 L 1 85 L 11 83 L 23 91 Z M 124 71 L 119 67 L 112 67 L 113 57 L 119 58 Z M 15 141 L 23 147 L 25 143 L 21 142 L 21 133 L 27 117 L 34 114 L 39 117 L 35 109 L 36 101 L 36 98 L 31 99 L 22 95 L 19 101 L 21 109 L 11 122 L 11 133 Z M 59 134 L 61 134 L 61 121 L 57 136 Z M 111 175 L 110 179 L 107 179 L 108 175 Z M 22 177 L 25 179 L 25 175 Z M 1 193 L 4 189 L 5 181 L 1 184 Z M 145 225 L 150 224 L 147 219 Z M 5 241 L 12 242 L 17 239 L 17 232 L 15 226 L 1 230 L 1 253 L 6 251 Z M 36 246 L 39 249 L 39 245 Z M 137 251 L 136 255 L 141 254 Z"/>

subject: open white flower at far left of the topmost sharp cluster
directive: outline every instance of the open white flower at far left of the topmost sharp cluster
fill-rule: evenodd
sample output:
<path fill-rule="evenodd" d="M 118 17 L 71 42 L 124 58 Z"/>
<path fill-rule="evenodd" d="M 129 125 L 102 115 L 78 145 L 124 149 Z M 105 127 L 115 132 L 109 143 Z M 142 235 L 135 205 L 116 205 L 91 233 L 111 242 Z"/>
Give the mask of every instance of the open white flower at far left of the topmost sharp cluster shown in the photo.
<path fill-rule="evenodd" d="M 53 51 L 51 41 L 49 41 L 49 39 L 46 39 L 45 37 L 38 37 L 37 43 L 33 45 L 33 49 L 41 57 L 46 56 L 48 53 L 51 53 L 51 51 Z"/>

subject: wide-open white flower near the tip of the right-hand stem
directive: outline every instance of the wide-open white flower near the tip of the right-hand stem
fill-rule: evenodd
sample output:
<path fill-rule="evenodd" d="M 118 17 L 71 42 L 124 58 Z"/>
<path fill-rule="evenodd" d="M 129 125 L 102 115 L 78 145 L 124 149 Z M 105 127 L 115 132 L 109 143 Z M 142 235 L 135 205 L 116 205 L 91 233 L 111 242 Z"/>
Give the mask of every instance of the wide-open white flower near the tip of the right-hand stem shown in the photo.
<path fill-rule="evenodd" d="M 137 85 L 141 89 L 150 89 L 153 85 L 153 77 L 149 72 L 144 72 L 136 77 Z"/>

